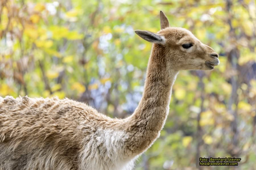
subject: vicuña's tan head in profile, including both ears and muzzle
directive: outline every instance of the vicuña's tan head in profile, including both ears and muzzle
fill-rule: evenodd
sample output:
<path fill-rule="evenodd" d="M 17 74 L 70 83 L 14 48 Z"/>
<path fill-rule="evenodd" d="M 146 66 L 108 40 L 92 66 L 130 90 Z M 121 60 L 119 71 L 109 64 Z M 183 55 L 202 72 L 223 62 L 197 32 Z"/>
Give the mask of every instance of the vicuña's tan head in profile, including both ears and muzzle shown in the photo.
<path fill-rule="evenodd" d="M 141 38 L 155 43 L 152 52 L 161 51 L 165 61 L 175 70 L 212 70 L 219 64 L 218 54 L 185 28 L 170 27 L 160 11 L 161 30 L 157 33 L 135 30 Z M 158 51 L 159 52 L 159 51 Z"/>

